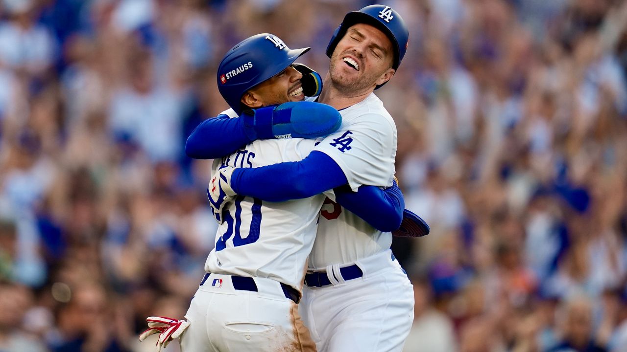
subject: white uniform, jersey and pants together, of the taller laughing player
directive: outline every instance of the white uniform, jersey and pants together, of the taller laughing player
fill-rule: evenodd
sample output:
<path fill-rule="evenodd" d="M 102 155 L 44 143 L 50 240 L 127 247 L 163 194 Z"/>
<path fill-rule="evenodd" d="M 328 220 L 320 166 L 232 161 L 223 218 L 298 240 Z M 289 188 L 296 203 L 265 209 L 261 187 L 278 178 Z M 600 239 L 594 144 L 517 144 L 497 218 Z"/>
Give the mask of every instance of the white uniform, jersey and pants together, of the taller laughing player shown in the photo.
<path fill-rule="evenodd" d="M 340 113 L 339 132 L 314 150 L 337 162 L 353 190 L 360 185 L 391 185 L 396 125 L 381 100 L 371 94 Z M 298 306 L 317 350 L 401 351 L 414 318 L 414 296 L 389 249 L 391 233 L 374 229 L 330 199 L 319 219 L 309 269 L 325 269 L 331 284 L 304 286 Z M 353 265 L 362 276 L 346 279 L 340 267 Z"/>

